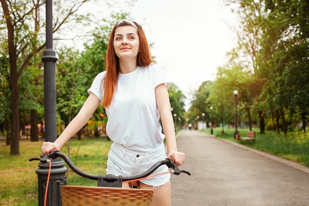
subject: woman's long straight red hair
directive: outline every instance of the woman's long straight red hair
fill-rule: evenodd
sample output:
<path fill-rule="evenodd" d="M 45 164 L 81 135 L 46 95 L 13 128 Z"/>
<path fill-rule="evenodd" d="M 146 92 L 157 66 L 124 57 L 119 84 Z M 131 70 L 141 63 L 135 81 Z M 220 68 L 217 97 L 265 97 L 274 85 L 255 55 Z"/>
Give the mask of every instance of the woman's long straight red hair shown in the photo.
<path fill-rule="evenodd" d="M 150 49 L 148 46 L 148 42 L 145 36 L 145 33 L 140 25 L 138 25 L 136 22 L 133 22 L 137 28 L 138 28 L 138 37 L 140 41 L 140 47 L 139 52 L 137 54 L 136 64 L 137 66 L 147 66 L 154 62 L 152 55 L 150 53 Z M 116 83 L 117 83 L 117 77 L 120 71 L 119 68 L 119 59 L 115 53 L 114 49 L 114 36 L 115 36 L 115 30 L 117 27 L 121 26 L 132 26 L 128 22 L 121 22 L 120 24 L 116 24 L 113 28 L 110 36 L 110 40 L 107 46 L 107 52 L 106 52 L 106 63 L 105 63 L 105 70 L 106 70 L 106 76 L 101 82 L 101 89 L 105 89 L 104 97 L 102 106 L 108 107 L 111 102 L 113 101 Z"/>

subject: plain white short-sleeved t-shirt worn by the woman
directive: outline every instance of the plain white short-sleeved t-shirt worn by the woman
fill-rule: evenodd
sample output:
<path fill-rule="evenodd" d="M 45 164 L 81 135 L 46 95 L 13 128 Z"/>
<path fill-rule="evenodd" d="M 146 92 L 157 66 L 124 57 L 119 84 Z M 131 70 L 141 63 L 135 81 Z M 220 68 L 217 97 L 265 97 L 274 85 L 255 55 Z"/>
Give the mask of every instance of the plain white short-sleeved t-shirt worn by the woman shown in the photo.
<path fill-rule="evenodd" d="M 103 101 L 100 91 L 106 72 L 99 73 L 87 90 Z M 164 83 L 169 88 L 163 70 L 157 64 L 138 66 L 127 74 L 119 74 L 114 100 L 106 109 L 107 135 L 123 147 L 140 152 L 149 152 L 162 144 L 164 134 L 159 124 L 154 89 Z"/>

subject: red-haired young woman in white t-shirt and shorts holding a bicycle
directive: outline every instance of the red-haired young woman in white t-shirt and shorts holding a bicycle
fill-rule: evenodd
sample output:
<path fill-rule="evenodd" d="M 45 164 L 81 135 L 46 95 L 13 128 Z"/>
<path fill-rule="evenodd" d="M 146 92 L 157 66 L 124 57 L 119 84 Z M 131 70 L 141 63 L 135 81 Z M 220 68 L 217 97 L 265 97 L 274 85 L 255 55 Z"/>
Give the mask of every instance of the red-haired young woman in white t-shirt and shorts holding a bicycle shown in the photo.
<path fill-rule="evenodd" d="M 57 140 L 43 143 L 42 154 L 60 150 L 101 104 L 108 116 L 106 132 L 113 140 L 108 174 L 137 175 L 169 157 L 174 158 L 176 165 L 183 164 L 185 154 L 178 152 L 176 146 L 169 86 L 161 68 L 154 64 L 143 29 L 136 22 L 120 20 L 110 36 L 106 71 L 94 79 L 84 105 Z M 155 173 L 164 171 L 168 168 L 160 166 Z M 155 189 L 152 206 L 171 206 L 169 173 L 141 180 L 140 188 Z"/>

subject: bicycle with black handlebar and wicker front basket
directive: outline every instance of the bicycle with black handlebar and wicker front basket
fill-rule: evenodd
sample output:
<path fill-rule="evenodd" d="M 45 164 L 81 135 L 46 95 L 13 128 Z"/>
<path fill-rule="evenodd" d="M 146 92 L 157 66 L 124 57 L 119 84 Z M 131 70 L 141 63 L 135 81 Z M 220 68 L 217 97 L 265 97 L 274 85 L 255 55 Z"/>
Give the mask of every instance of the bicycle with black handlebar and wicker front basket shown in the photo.
<path fill-rule="evenodd" d="M 153 189 L 136 189 L 136 188 L 121 188 L 122 183 L 138 181 L 144 178 L 150 178 L 150 176 L 159 166 L 166 165 L 170 170 L 170 173 L 179 175 L 180 173 L 186 173 L 191 175 L 190 172 L 180 170 L 174 163 L 172 158 L 159 161 L 154 164 L 150 169 L 142 174 L 122 177 L 115 176 L 113 174 L 108 175 L 94 175 L 79 169 L 71 159 L 65 154 L 54 150 L 50 154 L 42 158 L 31 158 L 29 161 L 39 160 L 41 163 L 49 163 L 56 158 L 62 158 L 67 165 L 78 175 L 97 180 L 97 187 L 91 186 L 61 186 L 61 198 L 62 206 L 150 206 L 154 190 Z M 157 174 L 160 175 L 160 174 Z M 49 179 L 49 177 L 47 178 Z M 48 189 L 48 181 L 46 183 L 45 200 Z"/>

